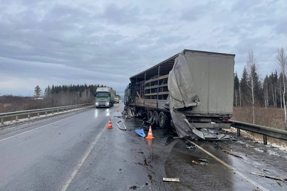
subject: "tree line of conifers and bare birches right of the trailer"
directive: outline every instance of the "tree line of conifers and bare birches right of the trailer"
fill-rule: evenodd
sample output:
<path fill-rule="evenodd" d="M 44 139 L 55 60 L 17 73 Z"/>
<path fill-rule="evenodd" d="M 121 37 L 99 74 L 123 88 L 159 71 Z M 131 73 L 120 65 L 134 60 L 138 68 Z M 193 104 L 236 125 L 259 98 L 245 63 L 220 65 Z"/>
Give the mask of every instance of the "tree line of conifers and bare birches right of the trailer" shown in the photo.
<path fill-rule="evenodd" d="M 234 73 L 234 107 L 252 107 L 253 123 L 255 121 L 254 107 L 283 108 L 285 114 L 285 128 L 287 130 L 286 115 L 286 72 L 287 53 L 283 48 L 277 49 L 274 70 L 260 80 L 258 63 L 252 50 L 248 52 L 246 65 L 239 79 Z"/>

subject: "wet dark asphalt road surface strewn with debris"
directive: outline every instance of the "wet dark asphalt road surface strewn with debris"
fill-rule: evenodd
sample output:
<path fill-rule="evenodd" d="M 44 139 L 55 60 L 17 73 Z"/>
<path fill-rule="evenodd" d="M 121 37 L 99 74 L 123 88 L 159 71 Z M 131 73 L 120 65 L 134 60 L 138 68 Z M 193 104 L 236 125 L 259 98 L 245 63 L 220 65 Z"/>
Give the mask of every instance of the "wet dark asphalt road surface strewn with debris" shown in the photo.
<path fill-rule="evenodd" d="M 152 141 L 141 138 L 134 132 L 141 128 L 139 118 L 127 119 L 127 130 L 120 130 L 115 116 L 121 114 L 116 109 L 117 105 L 87 109 L 0 135 L 0 190 L 287 190 L 285 182 L 280 187 L 274 179 L 250 174 L 286 176 L 284 153 L 258 151 L 261 156 L 255 158 L 245 156 L 237 141 L 218 142 L 242 159 L 213 147 L 212 142 L 196 142 L 232 170 L 199 148 L 186 149 L 185 141 L 173 139 L 170 131 L 153 130 Z M 106 129 L 109 118 L 113 129 Z M 123 119 L 119 124 L 123 127 Z M 192 163 L 201 162 L 199 158 L 209 163 Z"/>

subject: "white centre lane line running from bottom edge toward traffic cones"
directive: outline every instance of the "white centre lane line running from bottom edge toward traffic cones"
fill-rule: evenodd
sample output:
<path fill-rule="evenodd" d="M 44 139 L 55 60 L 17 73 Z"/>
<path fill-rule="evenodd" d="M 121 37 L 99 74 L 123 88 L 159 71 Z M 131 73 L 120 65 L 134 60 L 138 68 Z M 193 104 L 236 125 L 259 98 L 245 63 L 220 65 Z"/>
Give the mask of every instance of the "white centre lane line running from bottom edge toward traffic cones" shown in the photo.
<path fill-rule="evenodd" d="M 73 170 L 73 172 L 71 173 L 71 175 L 69 176 L 68 180 L 65 182 L 65 184 L 63 185 L 63 187 L 60 189 L 60 191 L 65 191 L 68 186 L 70 185 L 70 183 L 72 182 L 73 178 L 75 177 L 75 175 L 78 173 L 79 169 L 82 167 L 83 163 L 85 162 L 86 158 L 88 157 L 88 155 L 91 153 L 91 151 L 93 150 L 94 146 L 96 145 L 96 143 L 98 142 L 98 140 L 100 139 L 101 135 L 104 133 L 104 131 L 106 130 L 108 124 L 105 125 L 105 127 L 103 128 L 103 130 L 97 135 L 97 137 L 95 138 L 95 140 L 90 144 L 88 150 L 86 151 L 86 153 L 84 154 L 84 156 L 82 157 L 82 159 L 80 160 L 80 163 L 78 164 L 78 166 Z"/>

